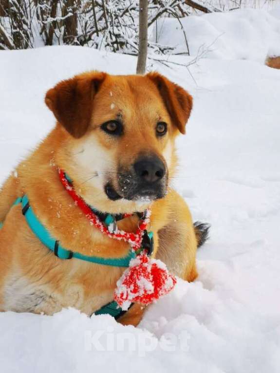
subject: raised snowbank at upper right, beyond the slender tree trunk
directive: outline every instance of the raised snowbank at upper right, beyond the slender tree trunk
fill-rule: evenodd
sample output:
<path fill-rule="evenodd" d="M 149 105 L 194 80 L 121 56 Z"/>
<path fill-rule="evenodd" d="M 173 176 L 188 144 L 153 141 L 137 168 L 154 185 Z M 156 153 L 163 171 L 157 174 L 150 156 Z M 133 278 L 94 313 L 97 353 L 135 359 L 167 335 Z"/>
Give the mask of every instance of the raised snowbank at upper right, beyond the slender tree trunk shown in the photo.
<path fill-rule="evenodd" d="M 250 59 L 264 62 L 280 56 L 280 19 L 263 10 L 238 9 L 181 19 L 162 18 L 153 29 L 153 41 L 172 45 L 172 53 L 219 59 Z M 182 30 L 182 27 L 185 30 Z"/>

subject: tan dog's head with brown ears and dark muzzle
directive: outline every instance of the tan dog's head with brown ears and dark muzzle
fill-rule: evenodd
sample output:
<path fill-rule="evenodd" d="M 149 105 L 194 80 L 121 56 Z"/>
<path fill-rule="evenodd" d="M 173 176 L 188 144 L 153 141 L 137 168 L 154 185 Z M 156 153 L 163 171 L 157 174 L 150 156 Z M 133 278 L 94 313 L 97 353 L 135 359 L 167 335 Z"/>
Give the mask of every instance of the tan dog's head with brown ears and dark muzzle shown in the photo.
<path fill-rule="evenodd" d="M 57 164 L 89 204 L 132 212 L 166 195 L 174 139 L 192 108 L 183 88 L 158 73 L 91 72 L 58 83 L 45 101 L 65 135 Z"/>

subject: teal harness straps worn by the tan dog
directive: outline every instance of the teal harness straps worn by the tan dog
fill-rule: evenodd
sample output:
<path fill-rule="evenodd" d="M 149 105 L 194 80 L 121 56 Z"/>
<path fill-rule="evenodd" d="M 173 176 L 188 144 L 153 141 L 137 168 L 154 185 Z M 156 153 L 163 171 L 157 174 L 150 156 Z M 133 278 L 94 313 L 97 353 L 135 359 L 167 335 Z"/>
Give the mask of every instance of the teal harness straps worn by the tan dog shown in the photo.
<path fill-rule="evenodd" d="M 22 214 L 24 215 L 27 224 L 29 225 L 32 232 L 37 236 L 37 238 L 50 250 L 52 250 L 55 255 L 60 259 L 80 259 L 82 261 L 90 261 L 96 264 L 102 265 L 110 265 L 116 267 L 129 267 L 129 263 L 131 259 L 136 257 L 136 253 L 133 250 L 130 250 L 129 254 L 124 258 L 100 258 L 95 256 L 86 256 L 80 254 L 78 252 L 73 252 L 71 250 L 67 250 L 66 248 L 62 247 L 59 241 L 55 240 L 48 232 L 48 230 L 40 223 L 37 216 L 35 215 L 34 211 L 32 210 L 29 200 L 26 195 L 21 198 L 18 198 L 14 205 L 22 206 Z M 111 224 L 113 220 L 112 215 L 108 214 L 106 219 L 104 220 L 105 224 Z M 0 223 L 0 228 L 2 228 L 3 223 Z M 153 240 L 152 234 L 149 232 L 149 241 L 152 248 Z M 122 311 L 121 308 L 118 307 L 115 301 L 112 301 L 103 307 L 101 307 L 98 311 L 94 312 L 94 315 L 104 315 L 109 314 L 115 319 L 121 317 L 126 311 Z"/>

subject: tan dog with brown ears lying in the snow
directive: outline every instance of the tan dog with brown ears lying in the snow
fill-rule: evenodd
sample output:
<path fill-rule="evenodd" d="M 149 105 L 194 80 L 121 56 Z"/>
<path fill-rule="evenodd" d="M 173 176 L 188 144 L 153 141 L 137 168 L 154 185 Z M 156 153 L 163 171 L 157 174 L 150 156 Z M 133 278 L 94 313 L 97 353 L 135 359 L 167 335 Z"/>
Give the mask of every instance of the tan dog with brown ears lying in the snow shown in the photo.
<path fill-rule="evenodd" d="M 150 209 L 152 257 L 174 275 L 195 280 L 196 251 L 208 227 L 193 224 L 186 202 L 169 186 L 177 164 L 174 141 L 185 133 L 191 95 L 156 72 L 92 71 L 59 82 L 45 103 L 55 128 L 0 191 L 0 311 L 53 315 L 74 307 L 91 316 L 112 302 L 125 268 L 106 260 L 126 257 L 130 244 L 91 224 L 62 185 L 59 170 L 100 219 L 121 216 L 114 218 L 120 231 L 136 232 L 139 214 Z M 24 206 L 23 196 L 28 196 Z M 61 259 L 34 234 L 24 217 L 31 208 L 72 259 Z M 144 312 L 145 306 L 134 303 L 117 319 L 136 326 Z"/>

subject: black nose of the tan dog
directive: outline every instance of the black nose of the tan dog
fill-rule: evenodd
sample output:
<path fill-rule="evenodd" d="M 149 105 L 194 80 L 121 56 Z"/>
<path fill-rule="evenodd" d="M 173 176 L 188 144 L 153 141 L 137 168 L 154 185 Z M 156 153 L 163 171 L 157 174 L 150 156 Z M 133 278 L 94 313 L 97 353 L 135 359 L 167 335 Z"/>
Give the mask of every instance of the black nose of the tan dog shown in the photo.
<path fill-rule="evenodd" d="M 143 157 L 134 163 L 136 175 L 148 183 L 154 183 L 165 175 L 165 166 L 156 156 Z"/>

